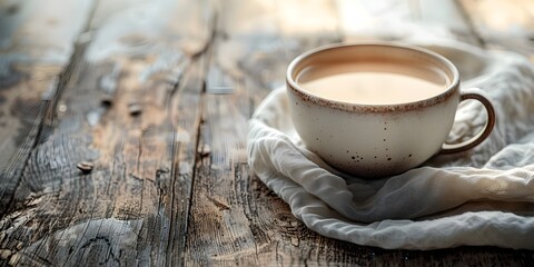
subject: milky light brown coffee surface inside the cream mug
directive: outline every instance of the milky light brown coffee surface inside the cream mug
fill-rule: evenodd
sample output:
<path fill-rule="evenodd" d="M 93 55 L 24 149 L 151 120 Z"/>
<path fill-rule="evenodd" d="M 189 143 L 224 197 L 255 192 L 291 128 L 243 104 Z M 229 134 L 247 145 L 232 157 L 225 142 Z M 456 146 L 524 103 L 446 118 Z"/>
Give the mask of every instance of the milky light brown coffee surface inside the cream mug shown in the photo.
<path fill-rule="evenodd" d="M 318 97 L 362 105 L 418 101 L 444 92 L 448 85 L 446 76 L 431 69 L 388 62 L 310 66 L 296 81 Z"/>

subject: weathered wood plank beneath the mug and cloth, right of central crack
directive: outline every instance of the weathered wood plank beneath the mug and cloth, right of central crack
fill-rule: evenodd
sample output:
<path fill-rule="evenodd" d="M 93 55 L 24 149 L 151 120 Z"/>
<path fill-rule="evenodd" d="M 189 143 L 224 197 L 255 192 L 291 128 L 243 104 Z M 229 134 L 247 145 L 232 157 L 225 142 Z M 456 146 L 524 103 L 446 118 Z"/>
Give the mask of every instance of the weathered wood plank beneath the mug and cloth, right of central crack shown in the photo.
<path fill-rule="evenodd" d="M 323 8 L 318 8 L 322 11 L 307 13 L 326 16 L 332 2 L 322 3 Z M 343 29 L 326 27 L 294 34 L 291 29 L 298 29 L 298 22 L 290 21 L 289 26 L 296 26 L 284 28 L 279 20 L 286 17 L 274 14 L 284 13 L 278 11 L 284 4 L 275 7 L 264 1 L 239 4 L 225 1 L 218 14 L 221 21 L 207 77 L 205 122 L 198 146 L 201 160 L 194 185 L 186 264 L 523 266 L 533 263 L 531 251 L 495 247 L 407 251 L 357 246 L 319 236 L 298 221 L 246 165 L 245 123 L 269 90 L 284 83 L 285 68 L 296 53 L 344 38 L 339 34 Z M 231 21 L 226 21 L 227 18 Z"/>

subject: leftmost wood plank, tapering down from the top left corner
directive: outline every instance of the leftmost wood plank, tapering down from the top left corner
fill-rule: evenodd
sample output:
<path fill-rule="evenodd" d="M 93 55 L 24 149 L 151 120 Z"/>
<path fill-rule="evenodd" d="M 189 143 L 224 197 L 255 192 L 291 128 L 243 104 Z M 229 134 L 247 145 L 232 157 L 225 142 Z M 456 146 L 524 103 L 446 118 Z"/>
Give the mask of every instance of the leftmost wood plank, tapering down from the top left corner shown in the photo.
<path fill-rule="evenodd" d="M 92 1 L 4 1 L 0 6 L 0 215 L 41 139 L 50 96 L 87 24 Z M 44 7 L 49 7 L 48 9 Z M 69 10 L 69 12 L 65 12 Z M 69 23 L 63 23 L 69 21 Z M 66 72 L 67 75 L 67 72 Z"/>

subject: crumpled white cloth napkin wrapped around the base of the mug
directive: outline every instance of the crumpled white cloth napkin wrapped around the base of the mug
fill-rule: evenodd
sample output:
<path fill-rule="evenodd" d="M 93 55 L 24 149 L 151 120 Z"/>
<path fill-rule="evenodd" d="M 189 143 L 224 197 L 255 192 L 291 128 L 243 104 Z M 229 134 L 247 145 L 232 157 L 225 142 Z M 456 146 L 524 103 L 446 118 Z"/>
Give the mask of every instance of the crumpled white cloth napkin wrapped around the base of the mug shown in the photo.
<path fill-rule="evenodd" d="M 483 144 L 390 178 L 347 177 L 306 150 L 279 88 L 249 121 L 250 168 L 324 236 L 382 248 L 534 249 L 533 66 L 515 53 L 465 43 L 424 47 L 458 67 L 463 88 L 478 87 L 493 101 L 497 121 Z M 484 123 L 482 105 L 463 102 L 449 139 L 473 136 Z"/>

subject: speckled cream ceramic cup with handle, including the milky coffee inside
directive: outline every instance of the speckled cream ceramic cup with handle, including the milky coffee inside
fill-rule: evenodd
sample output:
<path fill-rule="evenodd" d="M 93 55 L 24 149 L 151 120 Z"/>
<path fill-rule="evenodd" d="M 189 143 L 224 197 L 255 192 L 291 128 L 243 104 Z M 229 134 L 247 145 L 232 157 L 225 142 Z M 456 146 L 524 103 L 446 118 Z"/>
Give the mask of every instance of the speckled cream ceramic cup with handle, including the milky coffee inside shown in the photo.
<path fill-rule="evenodd" d="M 295 129 L 305 146 L 343 172 L 387 177 L 436 154 L 481 144 L 495 125 L 485 93 L 462 89 L 456 67 L 433 51 L 403 43 L 337 43 L 307 51 L 287 69 Z M 485 127 L 446 144 L 461 101 L 479 101 Z"/>

